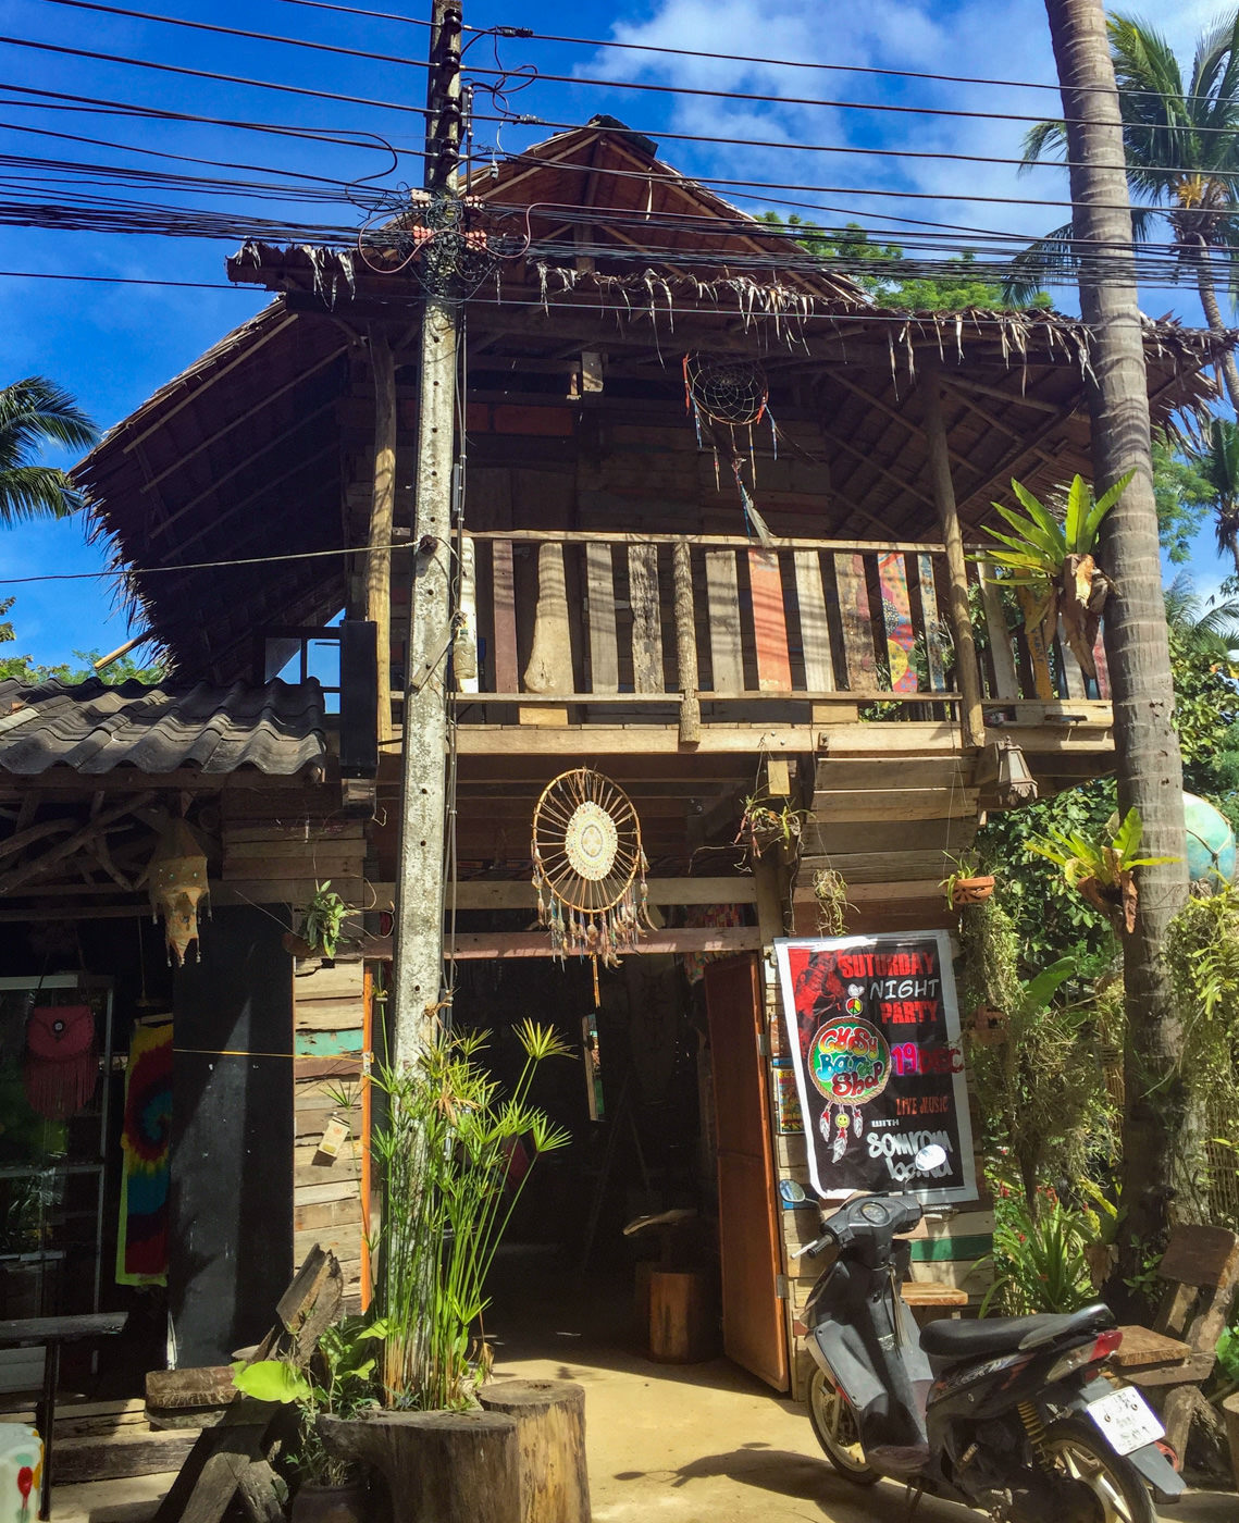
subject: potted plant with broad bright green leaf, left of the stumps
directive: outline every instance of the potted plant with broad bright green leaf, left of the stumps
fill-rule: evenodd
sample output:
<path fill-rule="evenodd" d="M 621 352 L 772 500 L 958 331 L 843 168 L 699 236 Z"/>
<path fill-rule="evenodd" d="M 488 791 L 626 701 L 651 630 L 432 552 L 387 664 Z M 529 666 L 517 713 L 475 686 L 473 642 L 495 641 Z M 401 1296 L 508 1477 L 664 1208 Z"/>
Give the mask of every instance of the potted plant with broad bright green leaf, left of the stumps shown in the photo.
<path fill-rule="evenodd" d="M 323 1415 L 349 1418 L 376 1406 L 374 1371 L 387 1325 L 344 1317 L 318 1339 L 306 1369 L 285 1359 L 233 1366 L 233 1384 L 257 1401 L 280 1401 L 298 1412 L 291 1459 L 297 1471 L 292 1523 L 362 1523 L 367 1517 L 361 1465 L 323 1442 Z"/>

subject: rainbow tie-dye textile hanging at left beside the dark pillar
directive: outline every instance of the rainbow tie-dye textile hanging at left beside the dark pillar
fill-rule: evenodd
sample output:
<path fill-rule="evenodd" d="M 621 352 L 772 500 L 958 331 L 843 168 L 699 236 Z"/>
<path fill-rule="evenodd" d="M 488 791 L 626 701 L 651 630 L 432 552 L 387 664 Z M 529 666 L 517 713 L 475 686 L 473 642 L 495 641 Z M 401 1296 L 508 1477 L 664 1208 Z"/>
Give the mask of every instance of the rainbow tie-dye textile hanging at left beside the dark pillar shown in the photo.
<path fill-rule="evenodd" d="M 172 1141 L 172 1022 L 135 1027 L 125 1069 L 120 1133 L 120 1285 L 167 1284 L 167 1185 Z"/>

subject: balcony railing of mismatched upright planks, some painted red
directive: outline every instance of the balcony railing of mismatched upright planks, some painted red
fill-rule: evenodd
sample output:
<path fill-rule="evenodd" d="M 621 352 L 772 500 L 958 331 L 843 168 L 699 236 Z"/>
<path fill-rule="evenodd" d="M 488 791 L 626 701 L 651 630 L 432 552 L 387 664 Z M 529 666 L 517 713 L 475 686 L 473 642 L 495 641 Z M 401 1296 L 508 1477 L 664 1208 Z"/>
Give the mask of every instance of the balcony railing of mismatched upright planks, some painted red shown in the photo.
<path fill-rule="evenodd" d="M 976 565 L 970 579 L 986 708 L 1088 696 L 1061 641 L 1026 638 L 1011 594 Z M 942 545 L 475 533 L 461 595 L 478 675 L 458 687 L 486 704 L 679 704 L 683 730 L 703 704 L 927 717 L 959 702 Z M 1104 664 L 1093 696 L 1108 696 Z"/>

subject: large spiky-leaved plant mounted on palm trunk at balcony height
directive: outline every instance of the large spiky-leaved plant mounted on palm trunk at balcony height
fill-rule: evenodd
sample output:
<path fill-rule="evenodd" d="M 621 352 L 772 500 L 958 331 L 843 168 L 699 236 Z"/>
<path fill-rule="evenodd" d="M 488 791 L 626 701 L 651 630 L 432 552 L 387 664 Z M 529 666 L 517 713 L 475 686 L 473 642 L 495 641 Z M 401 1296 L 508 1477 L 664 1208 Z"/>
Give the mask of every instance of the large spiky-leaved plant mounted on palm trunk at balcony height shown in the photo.
<path fill-rule="evenodd" d="M 986 535 L 997 539 L 1005 550 L 986 550 L 976 560 L 999 567 L 1003 580 L 1011 586 L 1029 586 L 1037 597 L 1030 623 L 1041 626 L 1047 646 L 1058 632 L 1058 615 L 1062 614 L 1062 629 L 1081 670 L 1096 678 L 1097 667 L 1093 647 L 1097 643 L 1102 608 L 1110 594 L 1110 577 L 1097 565 L 1093 550 L 1102 519 L 1119 501 L 1128 481 L 1125 475 L 1093 501 L 1093 492 L 1082 477 L 1076 475 L 1067 492 L 1067 506 L 1059 521 L 1026 486 L 1012 480 L 1011 490 L 1020 500 L 1027 516 L 1002 503 L 994 503 L 1014 535 L 988 528 Z"/>

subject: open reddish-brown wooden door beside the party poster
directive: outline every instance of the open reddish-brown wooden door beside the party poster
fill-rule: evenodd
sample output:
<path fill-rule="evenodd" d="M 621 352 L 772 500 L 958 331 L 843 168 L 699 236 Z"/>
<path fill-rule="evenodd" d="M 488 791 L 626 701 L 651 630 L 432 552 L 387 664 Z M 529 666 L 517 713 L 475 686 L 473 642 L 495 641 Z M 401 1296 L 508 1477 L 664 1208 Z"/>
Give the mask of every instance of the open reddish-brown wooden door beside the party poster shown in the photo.
<path fill-rule="evenodd" d="M 775 1390 L 787 1390 L 770 1084 L 761 1043 L 764 1002 L 755 953 L 706 966 L 718 1133 L 723 1348 Z"/>

